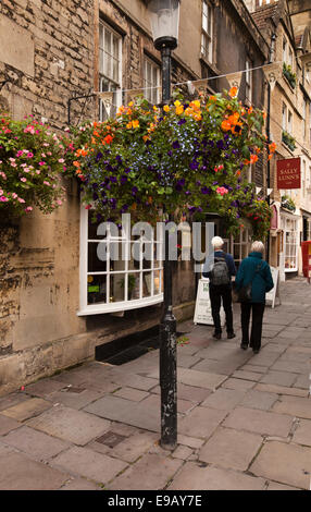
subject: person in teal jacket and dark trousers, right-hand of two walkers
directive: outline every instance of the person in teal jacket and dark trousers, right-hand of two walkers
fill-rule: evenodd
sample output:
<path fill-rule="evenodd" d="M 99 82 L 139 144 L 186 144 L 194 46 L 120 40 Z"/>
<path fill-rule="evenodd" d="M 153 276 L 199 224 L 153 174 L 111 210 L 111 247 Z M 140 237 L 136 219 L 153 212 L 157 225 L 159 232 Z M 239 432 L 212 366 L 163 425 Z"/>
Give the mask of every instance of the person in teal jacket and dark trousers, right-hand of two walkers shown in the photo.
<path fill-rule="evenodd" d="M 258 354 L 261 348 L 262 320 L 265 306 L 265 294 L 273 289 L 273 279 L 270 266 L 262 259 L 264 245 L 262 242 L 253 242 L 251 252 L 245 258 L 238 269 L 235 290 L 251 283 L 251 301 L 240 303 L 241 344 L 242 350 L 252 348 Z M 250 313 L 252 313 L 251 333 L 249 339 Z"/>

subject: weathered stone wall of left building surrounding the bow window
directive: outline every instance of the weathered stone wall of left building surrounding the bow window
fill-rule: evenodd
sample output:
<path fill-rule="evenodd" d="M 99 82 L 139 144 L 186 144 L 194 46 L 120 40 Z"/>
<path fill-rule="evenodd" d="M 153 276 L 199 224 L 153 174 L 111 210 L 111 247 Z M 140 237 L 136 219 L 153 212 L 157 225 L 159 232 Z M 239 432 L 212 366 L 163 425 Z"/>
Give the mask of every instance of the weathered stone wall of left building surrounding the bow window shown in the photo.
<path fill-rule="evenodd" d="M 159 54 L 112 2 L 3 0 L 0 81 L 10 83 L 0 95 L 1 105 L 16 119 L 32 113 L 62 129 L 67 100 L 97 89 L 97 9 L 124 35 L 123 88 L 141 87 L 144 48 L 158 60 Z M 84 100 L 72 102 L 73 123 L 83 105 Z M 96 105 L 88 100 L 83 117 L 96 115 Z M 79 198 L 75 182 L 65 185 L 66 202 L 52 215 L 34 210 L 15 223 L 0 219 L 0 394 L 94 358 L 96 345 L 154 326 L 161 317 L 161 305 L 148 307 L 144 315 L 139 309 L 126 312 L 121 318 L 77 316 Z M 194 310 L 190 267 L 183 280 L 182 294 L 174 295 L 177 318 Z"/>

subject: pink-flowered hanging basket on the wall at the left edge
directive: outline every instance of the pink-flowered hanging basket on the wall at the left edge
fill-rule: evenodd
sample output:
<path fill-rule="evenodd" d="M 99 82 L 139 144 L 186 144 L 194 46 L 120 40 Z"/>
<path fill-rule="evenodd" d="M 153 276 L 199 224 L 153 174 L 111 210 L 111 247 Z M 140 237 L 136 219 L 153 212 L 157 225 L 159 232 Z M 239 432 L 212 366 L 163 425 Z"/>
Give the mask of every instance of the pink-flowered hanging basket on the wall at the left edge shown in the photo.
<path fill-rule="evenodd" d="M 21 217 L 35 207 L 43 214 L 64 200 L 61 172 L 63 148 L 42 123 L 28 117 L 0 117 L 0 216 Z"/>

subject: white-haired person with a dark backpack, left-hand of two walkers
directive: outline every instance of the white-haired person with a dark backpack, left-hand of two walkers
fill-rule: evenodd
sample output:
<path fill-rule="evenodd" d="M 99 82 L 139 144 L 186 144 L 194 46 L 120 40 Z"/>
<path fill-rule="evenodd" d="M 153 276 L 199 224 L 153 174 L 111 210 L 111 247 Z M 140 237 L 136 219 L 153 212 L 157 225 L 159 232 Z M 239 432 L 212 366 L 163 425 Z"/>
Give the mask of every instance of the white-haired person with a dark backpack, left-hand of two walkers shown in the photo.
<path fill-rule="evenodd" d="M 220 340 L 222 338 L 222 326 L 220 310 L 223 303 L 223 307 L 226 316 L 226 330 L 227 338 L 235 338 L 234 327 L 233 327 L 233 309 L 232 309 L 232 276 L 236 275 L 236 268 L 234 258 L 231 254 L 224 253 L 223 246 L 224 241 L 220 236 L 214 236 L 211 241 L 211 244 L 214 248 L 213 254 L 211 254 L 204 264 L 203 277 L 210 279 L 209 291 L 210 291 L 210 301 L 212 317 L 214 322 L 215 331 L 213 338 Z M 212 280 L 212 269 L 216 260 L 224 260 L 226 264 L 227 271 L 227 282 L 224 284 L 215 284 Z"/>

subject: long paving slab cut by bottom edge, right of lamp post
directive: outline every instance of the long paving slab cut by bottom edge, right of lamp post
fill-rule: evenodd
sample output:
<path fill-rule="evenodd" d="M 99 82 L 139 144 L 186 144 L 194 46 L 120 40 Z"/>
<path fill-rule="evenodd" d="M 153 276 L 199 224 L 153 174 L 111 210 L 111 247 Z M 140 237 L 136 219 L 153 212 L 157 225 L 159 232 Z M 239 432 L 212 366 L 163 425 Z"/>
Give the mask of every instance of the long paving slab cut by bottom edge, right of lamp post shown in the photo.
<path fill-rule="evenodd" d="M 186 462 L 167 490 L 263 490 L 265 480 L 244 473 Z"/>

